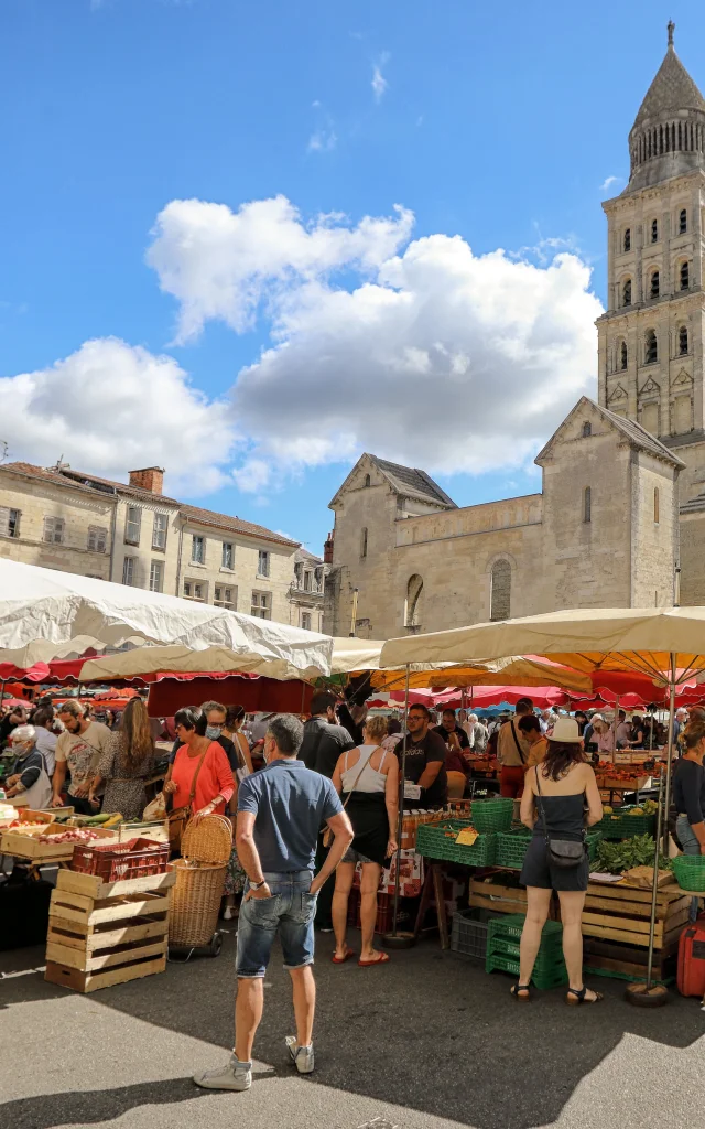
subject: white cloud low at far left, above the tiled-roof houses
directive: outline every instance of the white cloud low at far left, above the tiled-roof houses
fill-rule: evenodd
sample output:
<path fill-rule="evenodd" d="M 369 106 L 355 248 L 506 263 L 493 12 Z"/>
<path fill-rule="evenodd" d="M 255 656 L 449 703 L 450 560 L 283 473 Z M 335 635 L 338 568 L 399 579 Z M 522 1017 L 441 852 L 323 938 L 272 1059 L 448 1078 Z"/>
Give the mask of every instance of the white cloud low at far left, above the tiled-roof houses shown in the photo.
<path fill-rule="evenodd" d="M 222 403 L 194 388 L 171 357 L 116 338 L 87 341 L 64 360 L 0 378 L 1 437 L 10 457 L 124 478 L 150 463 L 167 489 L 194 496 L 227 481 L 235 430 Z"/>

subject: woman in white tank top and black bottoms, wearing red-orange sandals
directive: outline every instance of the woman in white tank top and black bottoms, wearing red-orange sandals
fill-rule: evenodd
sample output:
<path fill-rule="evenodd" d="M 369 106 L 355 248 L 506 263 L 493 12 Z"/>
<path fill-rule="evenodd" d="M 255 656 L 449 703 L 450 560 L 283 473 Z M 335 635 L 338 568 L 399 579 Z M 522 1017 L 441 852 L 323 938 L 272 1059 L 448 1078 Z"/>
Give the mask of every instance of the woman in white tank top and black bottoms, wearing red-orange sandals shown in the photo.
<path fill-rule="evenodd" d="M 372 964 L 385 964 L 389 960 L 387 953 L 379 952 L 372 944 L 379 879 L 385 860 L 397 849 L 399 762 L 393 752 L 381 747 L 386 733 L 386 718 L 369 717 L 363 729 L 363 744 L 343 753 L 333 773 L 333 785 L 343 799 L 355 832 L 335 874 L 332 914 L 335 931 L 334 964 L 343 964 L 354 956 L 347 946 L 345 934 L 347 901 L 358 863 L 362 864 L 362 945 L 358 964 L 364 969 Z"/>

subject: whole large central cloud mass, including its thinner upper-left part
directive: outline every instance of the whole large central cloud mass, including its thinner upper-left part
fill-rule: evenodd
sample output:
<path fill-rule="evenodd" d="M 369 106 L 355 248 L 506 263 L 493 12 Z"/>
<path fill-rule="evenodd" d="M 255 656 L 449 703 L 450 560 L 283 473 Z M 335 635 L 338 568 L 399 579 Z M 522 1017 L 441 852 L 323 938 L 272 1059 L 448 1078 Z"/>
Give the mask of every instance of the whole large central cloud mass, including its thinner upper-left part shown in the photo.
<path fill-rule="evenodd" d="M 475 255 L 459 236 L 408 243 L 412 225 L 402 208 L 307 225 L 283 198 L 161 213 L 150 260 L 182 335 L 268 326 L 232 393 L 241 490 L 363 449 L 448 473 L 521 466 L 594 394 L 601 306 L 578 254 L 543 239 L 538 261 Z"/>

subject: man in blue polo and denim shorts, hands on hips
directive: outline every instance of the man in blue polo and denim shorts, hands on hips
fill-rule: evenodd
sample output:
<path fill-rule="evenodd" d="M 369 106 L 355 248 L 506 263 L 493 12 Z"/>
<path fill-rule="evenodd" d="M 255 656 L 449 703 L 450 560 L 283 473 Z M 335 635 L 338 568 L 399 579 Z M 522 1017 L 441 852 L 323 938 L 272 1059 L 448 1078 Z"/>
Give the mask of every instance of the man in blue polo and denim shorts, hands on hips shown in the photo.
<path fill-rule="evenodd" d="M 237 850 L 249 890 L 238 920 L 235 1051 L 217 1070 L 194 1075 L 206 1089 L 249 1089 L 252 1050 L 264 1007 L 264 975 L 279 933 L 291 975 L 297 1034 L 287 1038 L 299 1074 L 314 1069 L 314 917 L 316 896 L 353 840 L 353 830 L 327 777 L 307 769 L 297 753 L 303 726 L 291 714 L 270 721 L 266 767 L 240 784 Z M 328 857 L 314 878 L 318 832 L 334 834 Z"/>

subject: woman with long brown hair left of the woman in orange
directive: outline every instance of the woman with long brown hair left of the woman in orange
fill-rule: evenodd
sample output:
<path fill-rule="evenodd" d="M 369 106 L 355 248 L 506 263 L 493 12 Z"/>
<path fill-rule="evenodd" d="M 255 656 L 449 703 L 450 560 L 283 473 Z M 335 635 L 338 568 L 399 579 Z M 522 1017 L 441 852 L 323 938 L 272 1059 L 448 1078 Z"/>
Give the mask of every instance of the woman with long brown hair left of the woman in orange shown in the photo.
<path fill-rule="evenodd" d="M 94 800 L 105 781 L 104 812 L 120 812 L 125 820 L 139 820 L 147 807 L 144 781 L 155 769 L 155 742 L 147 706 L 132 698 L 125 706 L 120 728 L 100 755 L 88 793 Z"/>

